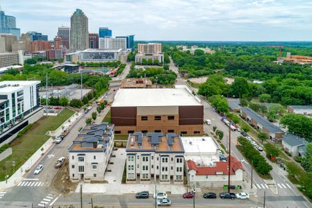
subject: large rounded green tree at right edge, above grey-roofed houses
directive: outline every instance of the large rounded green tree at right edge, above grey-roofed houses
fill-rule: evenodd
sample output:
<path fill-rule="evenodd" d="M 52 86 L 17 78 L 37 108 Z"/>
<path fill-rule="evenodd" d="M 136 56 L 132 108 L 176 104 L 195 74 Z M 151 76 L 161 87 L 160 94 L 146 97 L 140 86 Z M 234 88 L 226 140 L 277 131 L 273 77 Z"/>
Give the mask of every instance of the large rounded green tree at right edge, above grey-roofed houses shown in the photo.
<path fill-rule="evenodd" d="M 312 141 L 312 119 L 300 114 L 286 114 L 280 121 L 288 127 L 288 132 L 300 135 L 309 142 Z"/>

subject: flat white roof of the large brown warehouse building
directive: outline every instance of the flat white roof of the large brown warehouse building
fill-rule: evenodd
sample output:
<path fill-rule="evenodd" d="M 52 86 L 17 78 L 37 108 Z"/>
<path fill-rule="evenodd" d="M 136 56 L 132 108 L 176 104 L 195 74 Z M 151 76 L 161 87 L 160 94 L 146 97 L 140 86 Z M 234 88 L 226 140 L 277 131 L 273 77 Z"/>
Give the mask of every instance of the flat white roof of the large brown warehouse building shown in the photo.
<path fill-rule="evenodd" d="M 119 89 L 112 107 L 201 105 L 185 87 Z"/>

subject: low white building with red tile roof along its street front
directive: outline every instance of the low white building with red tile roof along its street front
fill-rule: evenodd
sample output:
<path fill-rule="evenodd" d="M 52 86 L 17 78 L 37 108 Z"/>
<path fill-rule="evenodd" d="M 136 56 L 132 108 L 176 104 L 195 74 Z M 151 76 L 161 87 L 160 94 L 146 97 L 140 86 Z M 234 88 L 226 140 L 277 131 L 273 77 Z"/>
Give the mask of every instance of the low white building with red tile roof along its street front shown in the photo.
<path fill-rule="evenodd" d="M 223 187 L 228 180 L 228 162 L 220 161 L 220 150 L 211 137 L 182 137 L 189 186 Z M 242 185 L 243 165 L 231 157 L 231 184 Z"/>

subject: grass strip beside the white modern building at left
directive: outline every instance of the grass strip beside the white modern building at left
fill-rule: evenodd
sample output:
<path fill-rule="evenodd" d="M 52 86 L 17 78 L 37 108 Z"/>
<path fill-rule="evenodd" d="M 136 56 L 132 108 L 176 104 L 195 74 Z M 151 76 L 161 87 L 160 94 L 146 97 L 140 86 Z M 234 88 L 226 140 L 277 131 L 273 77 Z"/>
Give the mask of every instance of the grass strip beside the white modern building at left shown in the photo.
<path fill-rule="evenodd" d="M 28 132 L 10 145 L 12 148 L 12 155 L 0 162 L 0 181 L 6 179 L 6 162 L 7 173 L 8 175 L 12 175 L 13 169 L 11 162 L 15 161 L 15 170 L 17 170 L 49 139 L 49 136 L 46 136 L 45 133 L 49 130 L 56 130 L 64 121 L 69 119 L 73 113 L 74 112 L 71 110 L 64 109 L 58 116 L 44 116 L 39 121 L 33 123 L 33 127 L 28 130 Z"/>

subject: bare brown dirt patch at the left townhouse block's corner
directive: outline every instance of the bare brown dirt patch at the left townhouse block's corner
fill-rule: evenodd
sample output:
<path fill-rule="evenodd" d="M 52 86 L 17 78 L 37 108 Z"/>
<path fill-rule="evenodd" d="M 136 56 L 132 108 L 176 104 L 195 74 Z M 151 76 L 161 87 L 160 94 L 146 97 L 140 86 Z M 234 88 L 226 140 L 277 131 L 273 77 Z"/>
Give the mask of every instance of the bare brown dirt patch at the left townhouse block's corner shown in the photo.
<path fill-rule="evenodd" d="M 69 162 L 68 159 L 64 161 L 64 164 L 58 170 L 58 173 L 55 175 L 52 181 L 52 187 L 55 191 L 59 193 L 69 193 L 71 191 L 75 191 L 78 185 L 78 182 L 73 183 L 69 180 Z"/>

